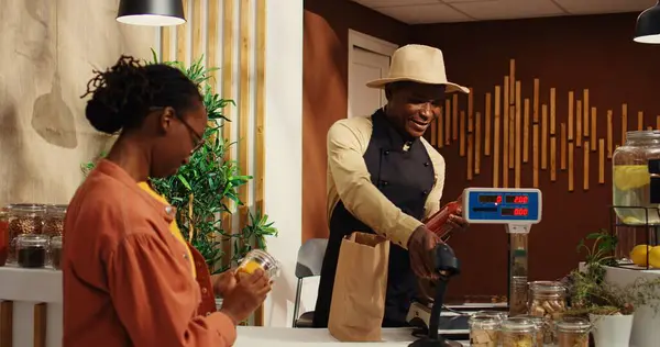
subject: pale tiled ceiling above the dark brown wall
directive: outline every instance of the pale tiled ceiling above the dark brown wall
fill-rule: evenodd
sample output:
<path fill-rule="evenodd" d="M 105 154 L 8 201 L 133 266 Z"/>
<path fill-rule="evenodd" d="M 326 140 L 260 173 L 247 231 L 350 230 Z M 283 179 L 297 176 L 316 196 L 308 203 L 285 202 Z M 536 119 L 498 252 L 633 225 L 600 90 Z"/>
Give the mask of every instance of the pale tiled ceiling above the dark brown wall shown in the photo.
<path fill-rule="evenodd" d="M 641 12 L 656 0 L 353 0 L 408 24 Z"/>

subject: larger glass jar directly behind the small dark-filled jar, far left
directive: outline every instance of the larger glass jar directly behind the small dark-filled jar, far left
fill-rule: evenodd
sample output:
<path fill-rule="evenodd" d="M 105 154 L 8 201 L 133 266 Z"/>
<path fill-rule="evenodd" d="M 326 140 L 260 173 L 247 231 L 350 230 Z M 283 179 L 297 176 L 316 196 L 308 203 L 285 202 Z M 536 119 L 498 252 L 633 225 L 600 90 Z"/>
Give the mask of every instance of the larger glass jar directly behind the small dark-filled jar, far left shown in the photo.
<path fill-rule="evenodd" d="M 9 262 L 15 264 L 15 238 L 23 234 L 41 234 L 46 206 L 43 204 L 16 203 L 7 206 L 9 219 Z"/>

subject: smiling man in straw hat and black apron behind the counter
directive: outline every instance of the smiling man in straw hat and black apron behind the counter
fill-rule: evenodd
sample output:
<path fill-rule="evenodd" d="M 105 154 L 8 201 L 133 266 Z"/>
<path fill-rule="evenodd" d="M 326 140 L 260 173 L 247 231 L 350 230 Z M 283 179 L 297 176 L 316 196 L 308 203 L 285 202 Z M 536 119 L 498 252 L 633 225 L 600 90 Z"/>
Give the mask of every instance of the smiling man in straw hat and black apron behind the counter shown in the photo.
<path fill-rule="evenodd" d="M 315 327 L 327 327 L 341 240 L 353 232 L 392 240 L 384 327 L 406 325 L 417 277 L 432 278 L 432 249 L 440 238 L 424 226 L 440 209 L 444 159 L 421 136 L 441 112 L 449 82 L 440 49 L 407 45 L 392 56 L 384 88 L 387 104 L 371 116 L 340 120 L 328 132 L 328 220 L 330 237 L 321 269 Z M 451 215 L 453 227 L 465 221 Z"/>

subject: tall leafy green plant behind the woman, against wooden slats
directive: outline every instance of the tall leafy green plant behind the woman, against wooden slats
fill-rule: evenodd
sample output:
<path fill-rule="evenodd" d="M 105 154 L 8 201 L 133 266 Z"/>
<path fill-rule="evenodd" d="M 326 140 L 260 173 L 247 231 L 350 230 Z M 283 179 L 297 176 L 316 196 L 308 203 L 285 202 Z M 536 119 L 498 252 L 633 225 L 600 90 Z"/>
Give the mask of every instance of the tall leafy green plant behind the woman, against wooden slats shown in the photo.
<path fill-rule="evenodd" d="M 227 201 L 243 205 L 238 189 L 246 184 L 252 176 L 241 175 L 235 160 L 224 160 L 233 143 L 222 137 L 222 126 L 230 121 L 222 111 L 234 102 L 215 93 L 209 83 L 211 72 L 218 68 L 206 68 L 204 57 L 186 67 L 180 61 L 160 61 L 153 49 L 152 54 L 153 60 L 147 64 L 177 67 L 199 86 L 209 117 L 204 134 L 205 145 L 176 175 L 152 179 L 152 183 L 177 209 L 176 222 L 184 237 L 204 255 L 211 272 L 219 273 L 235 265 L 252 248 L 265 249 L 265 237 L 277 236 L 277 230 L 262 211 L 252 213 L 249 209 L 249 221 L 239 233 L 226 231 L 222 226 L 222 215 L 234 212 Z M 101 153 L 98 158 L 105 155 Z M 98 158 L 81 165 L 84 175 L 94 169 Z M 231 256 L 223 251 L 222 245 L 226 243 L 231 244 Z M 227 258 L 230 260 L 224 261 Z"/>

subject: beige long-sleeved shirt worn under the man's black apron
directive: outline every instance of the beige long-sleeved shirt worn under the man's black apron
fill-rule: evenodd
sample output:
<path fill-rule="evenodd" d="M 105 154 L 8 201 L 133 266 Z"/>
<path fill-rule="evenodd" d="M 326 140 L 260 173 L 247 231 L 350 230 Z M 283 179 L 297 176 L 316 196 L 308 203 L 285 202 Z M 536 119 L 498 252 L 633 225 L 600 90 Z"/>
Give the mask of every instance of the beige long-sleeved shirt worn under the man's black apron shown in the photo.
<path fill-rule="evenodd" d="M 340 120 L 328 132 L 328 221 L 341 200 L 358 220 L 378 235 L 406 248 L 408 238 L 422 222 L 405 214 L 372 183 L 363 158 L 372 131 L 372 117 L 359 116 Z M 425 204 L 426 219 L 440 209 L 444 158 L 425 138 L 420 141 L 429 154 L 436 175 L 436 182 Z"/>

